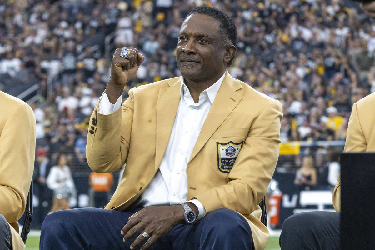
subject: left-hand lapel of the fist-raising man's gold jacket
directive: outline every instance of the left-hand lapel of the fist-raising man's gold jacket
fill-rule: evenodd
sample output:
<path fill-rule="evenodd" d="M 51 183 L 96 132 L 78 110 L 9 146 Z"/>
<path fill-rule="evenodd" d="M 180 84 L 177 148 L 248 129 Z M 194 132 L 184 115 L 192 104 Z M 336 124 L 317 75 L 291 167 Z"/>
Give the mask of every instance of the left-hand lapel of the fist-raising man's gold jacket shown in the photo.
<path fill-rule="evenodd" d="M 166 146 L 171 137 L 174 119 L 180 103 L 181 77 L 168 82 L 169 87 L 160 88 L 156 106 L 156 150 L 155 170 L 163 159 Z"/>

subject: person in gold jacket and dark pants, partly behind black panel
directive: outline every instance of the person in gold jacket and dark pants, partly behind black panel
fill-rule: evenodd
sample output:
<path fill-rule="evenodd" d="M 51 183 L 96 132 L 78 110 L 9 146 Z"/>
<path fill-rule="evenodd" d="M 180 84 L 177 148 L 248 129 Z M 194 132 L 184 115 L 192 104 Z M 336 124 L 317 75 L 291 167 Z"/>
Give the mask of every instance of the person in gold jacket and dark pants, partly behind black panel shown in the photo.
<path fill-rule="evenodd" d="M 344 152 L 375 151 L 375 93 L 354 103 L 348 123 Z M 341 208 L 340 174 L 333 191 L 333 207 Z M 306 212 L 294 214 L 284 221 L 280 237 L 281 249 L 339 249 L 340 213 Z"/>

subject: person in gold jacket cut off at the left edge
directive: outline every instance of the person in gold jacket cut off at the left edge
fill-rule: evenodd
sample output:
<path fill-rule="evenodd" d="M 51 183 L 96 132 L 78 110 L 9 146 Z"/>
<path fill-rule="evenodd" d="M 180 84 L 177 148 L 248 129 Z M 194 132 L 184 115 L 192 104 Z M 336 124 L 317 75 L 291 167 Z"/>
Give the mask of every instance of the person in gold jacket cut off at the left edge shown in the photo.
<path fill-rule="evenodd" d="M 25 249 L 17 220 L 33 176 L 35 127 L 31 107 L 0 91 L 0 249 Z"/>

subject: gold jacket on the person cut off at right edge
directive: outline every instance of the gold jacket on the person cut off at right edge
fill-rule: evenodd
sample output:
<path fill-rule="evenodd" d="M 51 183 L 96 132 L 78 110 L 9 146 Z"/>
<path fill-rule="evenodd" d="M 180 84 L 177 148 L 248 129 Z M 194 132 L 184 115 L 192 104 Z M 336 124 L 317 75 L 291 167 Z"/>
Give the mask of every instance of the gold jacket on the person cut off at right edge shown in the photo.
<path fill-rule="evenodd" d="M 354 103 L 349 118 L 344 152 L 375 151 L 375 93 Z M 333 207 L 341 211 L 341 173 L 333 191 Z"/>

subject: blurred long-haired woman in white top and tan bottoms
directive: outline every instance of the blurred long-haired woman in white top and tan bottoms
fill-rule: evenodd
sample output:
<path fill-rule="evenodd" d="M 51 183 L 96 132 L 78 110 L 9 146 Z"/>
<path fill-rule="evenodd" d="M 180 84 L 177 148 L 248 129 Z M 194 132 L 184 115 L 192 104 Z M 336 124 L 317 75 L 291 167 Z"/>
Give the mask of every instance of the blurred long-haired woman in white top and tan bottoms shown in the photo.
<path fill-rule="evenodd" d="M 53 190 L 53 202 L 49 213 L 70 209 L 69 198 L 75 196 L 76 190 L 70 168 L 66 165 L 65 154 L 61 154 L 57 165 L 52 166 L 46 183 L 49 189 Z"/>

